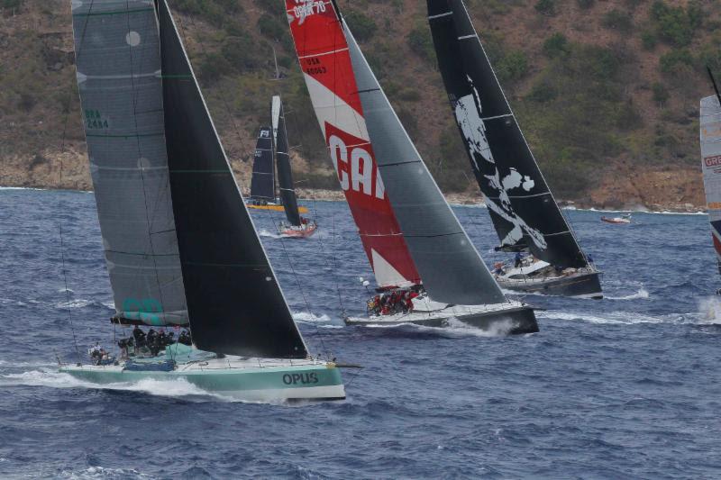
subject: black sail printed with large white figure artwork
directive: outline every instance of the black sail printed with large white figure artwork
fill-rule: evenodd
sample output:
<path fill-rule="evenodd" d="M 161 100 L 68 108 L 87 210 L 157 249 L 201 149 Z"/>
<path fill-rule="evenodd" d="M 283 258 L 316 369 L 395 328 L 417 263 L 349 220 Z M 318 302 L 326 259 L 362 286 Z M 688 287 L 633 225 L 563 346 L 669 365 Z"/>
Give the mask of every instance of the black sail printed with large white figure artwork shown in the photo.
<path fill-rule="evenodd" d="M 528 249 L 556 267 L 588 266 L 462 0 L 427 1 L 443 82 L 501 248 Z"/>

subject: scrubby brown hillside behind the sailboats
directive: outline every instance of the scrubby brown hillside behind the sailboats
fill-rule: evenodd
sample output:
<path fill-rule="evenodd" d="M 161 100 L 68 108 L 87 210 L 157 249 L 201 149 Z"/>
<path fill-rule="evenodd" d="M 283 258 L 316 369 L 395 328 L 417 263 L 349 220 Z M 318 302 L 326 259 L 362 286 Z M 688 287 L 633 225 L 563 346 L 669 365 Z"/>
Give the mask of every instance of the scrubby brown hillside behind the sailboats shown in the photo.
<path fill-rule="evenodd" d="M 478 187 L 445 100 L 425 2 L 340 0 L 446 192 Z M 718 0 L 467 0 L 557 196 L 702 205 L 698 99 L 721 76 Z M 247 181 L 269 97 L 284 96 L 300 186 L 337 189 L 283 2 L 170 0 L 233 168 Z M 0 0 L 0 185 L 89 189 L 68 0 Z M 280 80 L 273 80 L 273 50 Z"/>

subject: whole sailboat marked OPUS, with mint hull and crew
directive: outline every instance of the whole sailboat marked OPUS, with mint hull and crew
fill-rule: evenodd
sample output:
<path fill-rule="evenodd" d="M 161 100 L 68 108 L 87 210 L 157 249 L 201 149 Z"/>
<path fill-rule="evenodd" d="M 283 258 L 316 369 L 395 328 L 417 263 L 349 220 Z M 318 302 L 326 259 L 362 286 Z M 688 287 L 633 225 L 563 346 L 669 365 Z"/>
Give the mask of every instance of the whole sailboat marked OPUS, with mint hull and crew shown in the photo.
<path fill-rule="evenodd" d="M 339 369 L 308 355 L 293 322 L 166 0 L 73 0 L 72 14 L 113 322 L 187 326 L 194 346 L 159 354 L 138 341 L 130 358 L 60 371 L 248 400 L 344 398 Z"/>

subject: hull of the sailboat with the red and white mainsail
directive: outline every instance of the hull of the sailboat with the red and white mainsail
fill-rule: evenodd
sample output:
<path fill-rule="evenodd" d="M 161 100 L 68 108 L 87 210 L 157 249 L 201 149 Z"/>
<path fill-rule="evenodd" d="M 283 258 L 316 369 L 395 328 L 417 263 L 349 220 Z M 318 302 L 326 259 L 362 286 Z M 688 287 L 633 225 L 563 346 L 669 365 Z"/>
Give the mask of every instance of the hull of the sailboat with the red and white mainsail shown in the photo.
<path fill-rule="evenodd" d="M 346 325 L 397 326 L 404 324 L 424 327 L 447 328 L 455 322 L 461 322 L 481 331 L 490 331 L 505 335 L 522 335 L 539 331 L 534 310 L 527 306 L 495 312 L 478 312 L 468 315 L 451 315 L 443 312 L 429 312 L 414 318 L 415 315 L 393 315 L 390 317 L 346 318 Z"/>

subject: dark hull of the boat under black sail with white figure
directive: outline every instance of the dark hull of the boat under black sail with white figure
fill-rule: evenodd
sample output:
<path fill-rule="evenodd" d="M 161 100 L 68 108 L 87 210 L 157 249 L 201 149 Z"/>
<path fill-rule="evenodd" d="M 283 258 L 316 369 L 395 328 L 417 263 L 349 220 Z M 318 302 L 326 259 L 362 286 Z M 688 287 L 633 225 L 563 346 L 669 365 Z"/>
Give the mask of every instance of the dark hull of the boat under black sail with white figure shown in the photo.
<path fill-rule="evenodd" d="M 498 285 L 515 292 L 600 300 L 603 298 L 600 275 L 599 272 L 591 272 L 577 276 L 547 278 L 538 281 L 509 281 L 504 278 L 497 278 L 497 281 Z"/>

